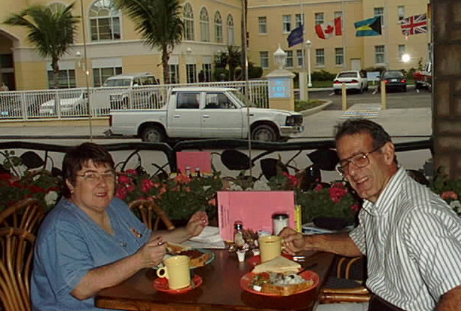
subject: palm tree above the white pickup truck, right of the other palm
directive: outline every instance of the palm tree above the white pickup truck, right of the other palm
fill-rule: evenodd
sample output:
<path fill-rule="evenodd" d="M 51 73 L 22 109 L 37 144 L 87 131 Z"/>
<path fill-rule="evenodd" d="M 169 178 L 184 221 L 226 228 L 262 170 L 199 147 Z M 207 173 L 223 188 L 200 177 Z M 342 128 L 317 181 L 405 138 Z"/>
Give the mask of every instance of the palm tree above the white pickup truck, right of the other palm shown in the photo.
<path fill-rule="evenodd" d="M 145 45 L 162 51 L 163 81 L 168 83 L 168 60 L 174 45 L 181 43 L 184 23 L 178 0 L 115 0 L 135 23 Z"/>

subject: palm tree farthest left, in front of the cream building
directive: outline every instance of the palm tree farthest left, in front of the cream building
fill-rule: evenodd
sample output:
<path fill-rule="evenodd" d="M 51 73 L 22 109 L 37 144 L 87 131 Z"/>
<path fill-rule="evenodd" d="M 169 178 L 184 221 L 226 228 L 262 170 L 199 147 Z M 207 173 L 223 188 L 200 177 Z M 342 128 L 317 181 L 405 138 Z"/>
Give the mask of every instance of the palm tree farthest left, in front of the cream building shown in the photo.
<path fill-rule="evenodd" d="M 57 89 L 57 73 L 60 58 L 69 52 L 77 33 L 79 16 L 72 16 L 74 3 L 69 6 L 33 4 L 20 13 L 12 13 L 4 23 L 9 26 L 23 26 L 28 29 L 28 40 L 35 46 L 40 57 L 51 58 L 53 84 Z"/>

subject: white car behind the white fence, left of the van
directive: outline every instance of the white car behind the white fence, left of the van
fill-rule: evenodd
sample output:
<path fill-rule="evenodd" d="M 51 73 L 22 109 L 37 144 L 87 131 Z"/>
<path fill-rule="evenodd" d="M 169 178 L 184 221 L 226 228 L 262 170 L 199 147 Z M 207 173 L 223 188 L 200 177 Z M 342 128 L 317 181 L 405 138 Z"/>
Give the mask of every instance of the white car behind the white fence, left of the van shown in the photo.
<path fill-rule="evenodd" d="M 59 111 L 57 101 L 60 103 Z M 88 94 L 84 91 L 79 94 L 58 94 L 57 98 L 42 103 L 38 113 L 40 115 L 88 115 L 87 103 Z"/>

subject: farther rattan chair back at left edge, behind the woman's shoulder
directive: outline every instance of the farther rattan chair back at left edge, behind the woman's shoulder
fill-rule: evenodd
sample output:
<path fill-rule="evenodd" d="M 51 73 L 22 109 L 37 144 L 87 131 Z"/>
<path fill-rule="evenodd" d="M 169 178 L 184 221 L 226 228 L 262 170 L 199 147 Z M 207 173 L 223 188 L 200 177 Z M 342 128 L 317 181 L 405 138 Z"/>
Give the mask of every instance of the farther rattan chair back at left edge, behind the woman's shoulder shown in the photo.
<path fill-rule="evenodd" d="M 25 198 L 0 213 L 0 227 L 15 227 L 37 234 L 45 210 L 36 198 Z"/>

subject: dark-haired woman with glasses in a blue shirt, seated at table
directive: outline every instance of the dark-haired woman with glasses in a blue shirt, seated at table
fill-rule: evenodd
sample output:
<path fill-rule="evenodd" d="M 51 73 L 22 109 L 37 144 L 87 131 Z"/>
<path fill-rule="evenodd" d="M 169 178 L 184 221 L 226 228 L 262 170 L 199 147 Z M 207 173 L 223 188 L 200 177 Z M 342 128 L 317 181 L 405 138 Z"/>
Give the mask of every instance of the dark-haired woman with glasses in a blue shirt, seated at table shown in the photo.
<path fill-rule="evenodd" d="M 109 152 L 86 142 L 62 162 L 64 198 L 45 217 L 35 242 L 30 294 L 33 310 L 100 310 L 94 295 L 142 268 L 157 266 L 165 243 L 184 242 L 208 225 L 206 213 L 186 227 L 151 232 L 114 198 Z"/>

